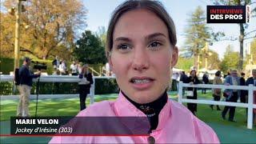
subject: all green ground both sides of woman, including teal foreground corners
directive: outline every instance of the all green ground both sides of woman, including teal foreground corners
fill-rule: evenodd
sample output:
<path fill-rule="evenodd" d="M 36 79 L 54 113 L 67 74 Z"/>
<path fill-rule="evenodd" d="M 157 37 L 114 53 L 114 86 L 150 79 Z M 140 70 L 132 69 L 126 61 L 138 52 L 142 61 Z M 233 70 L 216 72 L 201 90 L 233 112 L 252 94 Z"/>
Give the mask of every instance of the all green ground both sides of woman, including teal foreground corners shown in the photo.
<path fill-rule="evenodd" d="M 177 100 L 177 93 L 168 92 L 169 97 Z M 95 95 L 95 102 L 102 100 L 114 100 L 117 94 Z M 210 91 L 208 94 L 201 94 L 198 90 L 198 98 L 212 99 Z M 86 105 L 89 106 L 90 98 Z M 15 116 L 18 100 L 2 100 L 0 102 L 0 123 L 1 134 L 10 134 L 10 117 Z M 186 105 L 186 103 L 184 103 Z M 223 109 L 223 106 L 221 106 Z M 30 100 L 30 114 L 34 116 L 35 100 Z M 38 116 L 74 116 L 79 112 L 79 98 L 51 98 L 38 100 Z M 237 108 L 235 120 L 228 122 L 221 118 L 221 111 L 214 110 L 210 106 L 198 105 L 198 118 L 211 126 L 222 143 L 256 143 L 256 126 L 253 130 L 246 128 L 246 110 Z M 228 117 L 228 115 L 226 115 Z M 1 137 L 0 143 L 47 143 L 50 137 Z"/>

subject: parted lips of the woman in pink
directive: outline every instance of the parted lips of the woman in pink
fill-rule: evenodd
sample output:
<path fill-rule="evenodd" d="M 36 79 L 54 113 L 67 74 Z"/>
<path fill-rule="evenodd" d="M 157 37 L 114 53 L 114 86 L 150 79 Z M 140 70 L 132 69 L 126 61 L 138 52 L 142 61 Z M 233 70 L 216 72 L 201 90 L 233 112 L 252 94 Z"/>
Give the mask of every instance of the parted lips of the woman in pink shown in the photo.
<path fill-rule="evenodd" d="M 150 77 L 133 77 L 130 78 L 130 83 L 137 90 L 145 90 L 153 85 L 155 79 Z"/>

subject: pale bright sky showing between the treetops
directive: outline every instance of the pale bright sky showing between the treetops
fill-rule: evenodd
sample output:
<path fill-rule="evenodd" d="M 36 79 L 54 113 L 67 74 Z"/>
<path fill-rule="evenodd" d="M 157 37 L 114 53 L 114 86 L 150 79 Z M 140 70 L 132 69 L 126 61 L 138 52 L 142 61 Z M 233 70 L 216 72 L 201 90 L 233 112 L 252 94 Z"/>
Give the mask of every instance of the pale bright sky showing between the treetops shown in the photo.
<path fill-rule="evenodd" d="M 207 5 L 214 5 L 211 0 L 159 0 L 166 7 L 167 12 L 173 18 L 178 37 L 178 47 L 182 47 L 185 41 L 184 31 L 187 25 L 187 19 L 190 18 L 189 14 L 193 13 L 197 6 L 202 6 L 202 9 L 206 11 Z M 251 0 L 254 4 L 250 7 L 251 10 L 256 6 L 256 0 Z M 87 14 L 87 27 L 86 30 L 96 32 L 99 26 L 105 26 L 107 29 L 110 15 L 114 11 L 115 7 L 124 2 L 124 0 L 82 0 L 84 6 L 88 10 Z M 251 18 L 249 27 L 246 31 L 256 30 L 256 18 Z M 215 32 L 222 31 L 226 36 L 232 36 L 238 38 L 239 26 L 238 24 L 207 24 Z M 255 33 L 254 33 L 255 34 Z M 250 42 L 253 38 L 244 41 L 244 49 L 250 46 Z M 210 50 L 214 50 L 219 54 L 220 58 L 223 58 L 223 54 L 226 51 L 226 46 L 232 45 L 234 51 L 239 51 L 239 42 L 237 41 L 222 41 L 214 42 L 210 46 Z"/>

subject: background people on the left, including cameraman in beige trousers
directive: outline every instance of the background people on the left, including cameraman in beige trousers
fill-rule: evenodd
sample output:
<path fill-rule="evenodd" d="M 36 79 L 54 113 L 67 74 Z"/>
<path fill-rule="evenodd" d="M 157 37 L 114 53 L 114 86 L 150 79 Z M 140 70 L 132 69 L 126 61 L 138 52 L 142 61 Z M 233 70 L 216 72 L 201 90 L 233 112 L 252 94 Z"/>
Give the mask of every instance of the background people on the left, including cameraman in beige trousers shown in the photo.
<path fill-rule="evenodd" d="M 30 90 L 33 84 L 33 78 L 41 76 L 41 70 L 38 70 L 34 74 L 30 70 L 31 59 L 28 57 L 23 58 L 22 66 L 18 69 L 17 74 L 15 72 L 15 84 L 18 87 L 20 98 L 17 107 L 18 117 L 29 117 L 29 98 Z M 58 56 L 55 57 L 52 62 L 54 66 L 54 74 L 66 75 L 68 74 L 66 62 L 64 60 L 58 60 Z M 89 65 L 82 62 L 72 62 L 70 65 L 70 74 L 78 76 L 78 91 L 80 98 L 80 110 L 86 109 L 86 97 L 90 94 L 90 85 L 94 83 L 93 76 L 90 73 Z"/>

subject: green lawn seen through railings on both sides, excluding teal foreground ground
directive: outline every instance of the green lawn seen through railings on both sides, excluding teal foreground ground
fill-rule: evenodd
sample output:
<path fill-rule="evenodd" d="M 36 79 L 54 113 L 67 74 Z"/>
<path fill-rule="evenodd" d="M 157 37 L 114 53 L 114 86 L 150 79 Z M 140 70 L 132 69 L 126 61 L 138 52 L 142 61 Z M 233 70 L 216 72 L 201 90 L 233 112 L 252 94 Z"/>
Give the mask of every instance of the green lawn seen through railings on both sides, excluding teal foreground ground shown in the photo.
<path fill-rule="evenodd" d="M 175 92 L 168 93 L 170 98 L 177 99 Z M 102 94 L 95 95 L 95 102 L 102 100 L 114 100 L 117 94 Z M 208 94 L 201 94 L 198 90 L 198 98 L 211 99 L 210 92 Z M 86 105 L 89 105 L 90 98 L 87 98 Z M 10 120 L 11 116 L 15 116 L 18 100 L 4 100 L 1 102 L 1 121 Z M 184 104 L 186 105 L 186 104 Z M 214 107 L 215 108 L 215 107 Z M 216 109 L 216 108 L 215 108 Z M 221 106 L 223 109 L 223 106 Z M 34 116 L 35 100 L 30 101 L 30 115 Z M 52 98 L 38 100 L 38 116 L 73 116 L 79 112 L 79 99 L 78 98 Z M 238 126 L 246 128 L 246 110 L 244 108 L 236 108 L 235 120 L 237 122 L 224 121 L 221 118 L 221 111 L 211 110 L 208 105 L 198 105 L 198 118 L 204 122 L 218 123 L 226 126 Z M 228 115 L 226 115 L 226 118 Z M 254 128 L 255 130 L 255 128 Z"/>

